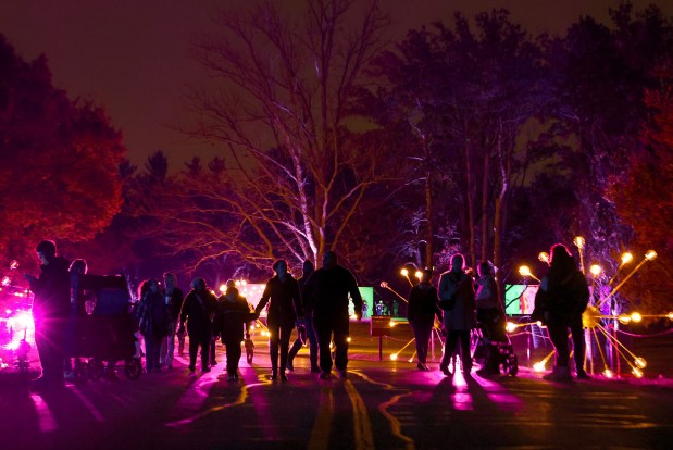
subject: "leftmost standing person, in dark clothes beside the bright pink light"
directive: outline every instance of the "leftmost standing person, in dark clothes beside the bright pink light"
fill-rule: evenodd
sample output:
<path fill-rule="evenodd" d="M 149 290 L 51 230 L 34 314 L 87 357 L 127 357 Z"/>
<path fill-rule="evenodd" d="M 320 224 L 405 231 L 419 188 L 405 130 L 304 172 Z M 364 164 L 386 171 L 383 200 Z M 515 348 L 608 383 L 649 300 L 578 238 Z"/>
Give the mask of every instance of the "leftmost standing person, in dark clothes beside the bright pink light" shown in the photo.
<path fill-rule="evenodd" d="M 42 375 L 33 383 L 33 387 L 62 387 L 64 349 L 71 314 L 70 262 L 63 257 L 57 257 L 57 246 L 51 240 L 38 243 L 36 252 L 42 263 L 40 276 L 37 278 L 25 275 L 35 295 L 35 346 L 42 365 Z"/>

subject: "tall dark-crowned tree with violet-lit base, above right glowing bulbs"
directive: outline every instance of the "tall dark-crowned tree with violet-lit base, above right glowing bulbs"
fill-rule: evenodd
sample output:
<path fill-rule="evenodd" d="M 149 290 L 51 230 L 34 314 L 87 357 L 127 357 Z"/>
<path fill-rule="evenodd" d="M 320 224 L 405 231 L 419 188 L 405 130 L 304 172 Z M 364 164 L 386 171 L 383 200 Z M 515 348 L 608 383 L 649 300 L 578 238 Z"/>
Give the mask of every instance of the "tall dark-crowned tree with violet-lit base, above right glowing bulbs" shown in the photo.
<path fill-rule="evenodd" d="M 561 238 L 584 235 L 586 254 L 601 261 L 615 260 L 632 237 L 605 192 L 640 153 L 645 90 L 659 83 L 652 71 L 673 43 L 671 21 L 656 7 L 634 12 L 623 3 L 610 13 L 611 26 L 584 17 L 548 43 L 556 98 L 550 134 L 564 143 L 553 158 L 578 200 Z"/>

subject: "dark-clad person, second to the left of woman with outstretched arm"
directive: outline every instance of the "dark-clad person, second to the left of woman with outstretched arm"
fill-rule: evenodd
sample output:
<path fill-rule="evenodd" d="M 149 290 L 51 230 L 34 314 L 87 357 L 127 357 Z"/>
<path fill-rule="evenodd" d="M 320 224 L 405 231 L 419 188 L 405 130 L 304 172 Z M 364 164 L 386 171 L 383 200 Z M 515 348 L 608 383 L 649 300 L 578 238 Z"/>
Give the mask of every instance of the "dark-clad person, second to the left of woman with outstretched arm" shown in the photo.
<path fill-rule="evenodd" d="M 201 347 L 201 370 L 210 372 L 210 341 L 213 333 L 213 316 L 217 309 L 217 299 L 208 290 L 203 278 L 191 282 L 191 291 L 185 298 L 179 318 L 179 333 L 189 335 L 189 371 L 196 371 L 197 353 Z"/>

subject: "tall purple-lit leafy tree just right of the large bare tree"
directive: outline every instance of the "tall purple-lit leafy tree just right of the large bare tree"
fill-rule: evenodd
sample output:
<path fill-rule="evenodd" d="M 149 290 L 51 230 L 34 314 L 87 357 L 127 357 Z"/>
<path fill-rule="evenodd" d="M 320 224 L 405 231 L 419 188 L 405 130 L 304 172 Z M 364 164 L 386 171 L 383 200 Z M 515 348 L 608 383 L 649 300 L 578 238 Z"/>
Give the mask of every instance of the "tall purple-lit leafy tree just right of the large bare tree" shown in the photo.
<path fill-rule="evenodd" d="M 478 14 L 475 24 L 457 14 L 451 28 L 410 32 L 379 61 L 391 84 L 379 96 L 397 114 L 385 111 L 382 123 L 406 123 L 416 139 L 409 174 L 425 198 L 426 265 L 433 224 L 449 221 L 459 235 L 438 239 L 436 253 L 462 237 L 472 265 L 502 263 L 507 198 L 523 179 L 514 153 L 526 151 L 524 126 L 548 101 L 541 51 L 525 30 L 501 10 Z"/>

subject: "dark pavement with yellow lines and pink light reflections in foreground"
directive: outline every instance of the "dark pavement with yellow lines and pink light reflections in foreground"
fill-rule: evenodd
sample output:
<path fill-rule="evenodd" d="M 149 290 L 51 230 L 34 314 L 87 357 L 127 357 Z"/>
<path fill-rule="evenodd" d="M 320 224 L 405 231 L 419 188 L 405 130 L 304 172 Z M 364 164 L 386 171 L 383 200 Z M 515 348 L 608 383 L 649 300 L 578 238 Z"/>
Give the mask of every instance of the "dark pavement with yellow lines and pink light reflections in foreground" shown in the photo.
<path fill-rule="evenodd" d="M 465 382 L 436 363 L 422 373 L 378 362 L 375 343 L 360 339 L 347 380 L 316 379 L 301 354 L 289 382 L 270 382 L 260 343 L 239 383 L 222 363 L 190 375 L 180 360 L 137 382 L 43 395 L 3 386 L 0 448 L 671 448 L 673 389 L 663 383 L 550 384 L 525 368 Z"/>

